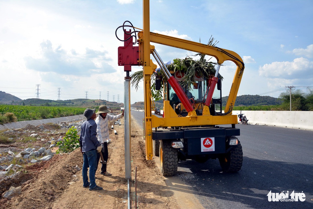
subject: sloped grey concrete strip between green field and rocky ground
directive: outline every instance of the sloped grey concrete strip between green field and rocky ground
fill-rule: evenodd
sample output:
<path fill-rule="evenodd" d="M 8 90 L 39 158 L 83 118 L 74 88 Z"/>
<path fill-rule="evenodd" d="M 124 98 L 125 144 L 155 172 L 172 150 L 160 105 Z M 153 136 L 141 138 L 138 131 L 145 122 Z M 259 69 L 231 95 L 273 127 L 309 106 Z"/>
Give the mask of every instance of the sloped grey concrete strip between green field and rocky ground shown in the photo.
<path fill-rule="evenodd" d="M 3 125 L 0 125 L 0 130 L 3 129 L 15 129 L 15 128 L 24 128 L 28 124 L 33 126 L 38 126 L 45 123 L 58 123 L 62 121 L 68 121 L 68 120 L 76 120 L 82 118 L 84 119 L 84 115 L 74 115 L 74 116 L 68 116 L 68 117 L 62 117 L 62 118 L 49 118 L 49 119 L 42 119 L 42 120 L 29 120 L 29 121 L 18 121 L 14 123 L 5 123 Z"/>

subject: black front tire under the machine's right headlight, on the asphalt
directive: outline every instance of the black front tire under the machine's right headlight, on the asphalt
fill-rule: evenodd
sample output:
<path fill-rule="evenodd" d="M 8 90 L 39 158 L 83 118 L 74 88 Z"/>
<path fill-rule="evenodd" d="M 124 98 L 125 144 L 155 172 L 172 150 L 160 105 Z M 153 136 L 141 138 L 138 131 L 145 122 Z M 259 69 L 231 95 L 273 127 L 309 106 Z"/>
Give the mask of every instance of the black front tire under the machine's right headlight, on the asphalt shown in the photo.
<path fill-rule="evenodd" d="M 232 146 L 232 149 L 230 149 L 228 153 L 219 157 L 218 160 L 223 172 L 239 171 L 243 161 L 242 146 L 239 140 L 236 146 Z"/>

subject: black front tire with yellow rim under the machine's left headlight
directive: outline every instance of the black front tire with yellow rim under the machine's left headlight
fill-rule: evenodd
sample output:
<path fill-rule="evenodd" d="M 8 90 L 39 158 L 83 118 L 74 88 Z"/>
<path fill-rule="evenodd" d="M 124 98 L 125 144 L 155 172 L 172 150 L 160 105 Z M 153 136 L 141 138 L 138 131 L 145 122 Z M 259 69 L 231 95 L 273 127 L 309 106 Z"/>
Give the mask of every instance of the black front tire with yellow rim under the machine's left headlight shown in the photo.
<path fill-rule="evenodd" d="M 177 173 L 178 152 L 172 148 L 171 141 L 160 140 L 160 170 L 163 176 L 172 176 Z"/>

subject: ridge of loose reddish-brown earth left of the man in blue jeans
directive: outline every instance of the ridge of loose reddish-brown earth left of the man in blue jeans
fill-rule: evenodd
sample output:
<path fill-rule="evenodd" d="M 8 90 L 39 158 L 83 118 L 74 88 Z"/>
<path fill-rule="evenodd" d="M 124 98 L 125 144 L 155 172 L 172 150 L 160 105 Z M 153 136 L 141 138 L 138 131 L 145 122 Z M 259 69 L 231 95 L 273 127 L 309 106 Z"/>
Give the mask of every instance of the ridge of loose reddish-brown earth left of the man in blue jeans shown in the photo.
<path fill-rule="evenodd" d="M 27 166 L 25 168 L 28 175 L 33 178 L 22 184 L 22 194 L 13 197 L 2 208 L 45 208 L 54 201 L 64 189 L 68 187 L 68 182 L 77 181 L 76 168 L 82 166 L 79 159 L 80 150 L 75 150 L 70 154 L 55 155 L 49 161 Z M 10 203 L 10 204 L 9 204 Z"/>

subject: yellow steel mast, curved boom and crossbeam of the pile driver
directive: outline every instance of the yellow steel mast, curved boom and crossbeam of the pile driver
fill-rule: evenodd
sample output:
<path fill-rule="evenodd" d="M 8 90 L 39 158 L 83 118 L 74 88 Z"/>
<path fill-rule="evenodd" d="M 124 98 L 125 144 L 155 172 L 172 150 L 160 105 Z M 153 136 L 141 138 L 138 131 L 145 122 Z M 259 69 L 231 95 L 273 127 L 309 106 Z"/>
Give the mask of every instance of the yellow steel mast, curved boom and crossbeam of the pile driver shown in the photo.
<path fill-rule="evenodd" d="M 201 44 L 184 39 L 178 39 L 171 36 L 150 32 L 150 2 L 143 0 L 143 31 L 138 33 L 139 43 L 139 63 L 143 65 L 144 76 L 144 94 L 145 94 L 145 139 L 146 139 L 146 159 L 151 160 L 152 154 L 152 128 L 167 127 L 167 126 L 199 126 L 199 125 L 220 125 L 220 124 L 236 124 L 237 116 L 232 115 L 232 108 L 237 97 L 242 73 L 244 71 L 243 60 L 241 57 L 230 50 L 220 49 L 206 44 Z M 229 92 L 228 100 L 224 112 L 229 114 L 223 116 L 210 115 L 209 108 L 204 106 L 203 115 L 188 115 L 187 117 L 178 117 L 175 111 L 170 106 L 169 101 L 164 101 L 163 110 L 164 118 L 158 118 L 151 114 L 151 75 L 156 69 L 156 65 L 150 59 L 154 46 L 150 42 L 163 44 L 171 47 L 176 47 L 184 50 L 194 51 L 205 55 L 210 55 L 216 58 L 218 64 L 222 64 L 226 60 L 233 61 L 236 65 L 236 72 L 233 78 L 233 83 Z M 232 55 L 228 56 L 226 53 Z M 234 59 L 235 58 L 235 59 Z"/>

